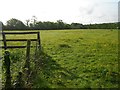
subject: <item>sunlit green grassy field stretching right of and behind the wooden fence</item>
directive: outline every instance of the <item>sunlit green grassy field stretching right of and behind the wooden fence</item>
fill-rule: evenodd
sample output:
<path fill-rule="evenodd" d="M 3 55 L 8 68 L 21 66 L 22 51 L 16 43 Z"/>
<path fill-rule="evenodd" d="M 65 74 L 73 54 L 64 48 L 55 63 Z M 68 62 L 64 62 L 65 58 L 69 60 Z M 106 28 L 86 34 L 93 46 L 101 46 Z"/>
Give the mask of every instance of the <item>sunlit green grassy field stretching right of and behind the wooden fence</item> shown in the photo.
<path fill-rule="evenodd" d="M 32 87 L 118 87 L 120 73 L 118 72 L 117 30 L 43 30 L 40 32 L 44 55 L 42 67 L 34 77 Z M 15 38 L 15 36 L 7 38 L 13 37 Z M 29 37 L 36 36 L 22 36 L 22 38 Z M 18 50 L 14 52 L 17 53 Z M 24 50 L 21 55 L 23 52 Z M 19 56 L 18 54 L 16 55 Z"/>

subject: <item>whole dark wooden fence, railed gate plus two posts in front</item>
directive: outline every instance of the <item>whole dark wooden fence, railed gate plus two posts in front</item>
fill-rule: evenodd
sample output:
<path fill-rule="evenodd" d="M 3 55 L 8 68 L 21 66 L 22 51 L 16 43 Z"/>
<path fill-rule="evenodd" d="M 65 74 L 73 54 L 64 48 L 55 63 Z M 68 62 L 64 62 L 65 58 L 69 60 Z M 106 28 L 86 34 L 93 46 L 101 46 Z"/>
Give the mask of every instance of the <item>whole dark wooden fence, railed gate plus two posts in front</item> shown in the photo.
<path fill-rule="evenodd" d="M 36 34 L 37 38 L 36 39 L 6 39 L 6 35 L 24 35 L 24 34 Z M 5 88 L 10 88 L 11 87 L 11 72 L 10 72 L 10 52 L 6 51 L 7 49 L 13 49 L 13 48 L 26 48 L 26 62 L 25 62 L 25 68 L 27 68 L 27 75 L 29 75 L 30 70 L 30 47 L 34 47 L 31 46 L 31 41 L 36 41 L 38 42 L 38 48 L 41 49 L 41 42 L 40 42 L 40 32 L 1 32 L 2 35 L 2 39 L 0 41 L 2 41 L 4 43 L 3 46 L 0 46 L 0 48 L 5 50 L 5 54 L 4 54 L 4 64 L 6 66 L 5 68 L 5 75 L 6 75 L 6 82 L 5 82 Z M 19 41 L 19 42 L 25 42 L 27 41 L 27 45 L 26 46 L 9 46 L 7 45 L 7 42 L 14 42 L 14 41 Z M 19 73 L 21 74 L 21 73 Z M 28 82 L 28 81 L 27 81 Z"/>

